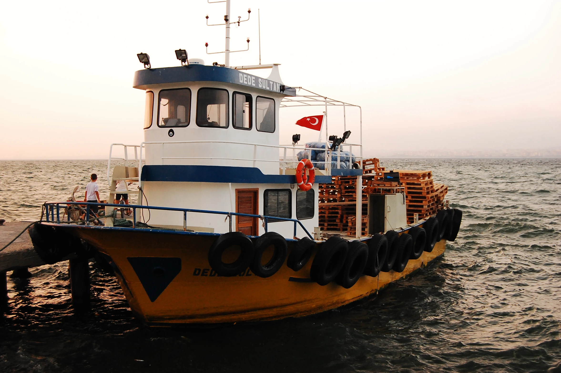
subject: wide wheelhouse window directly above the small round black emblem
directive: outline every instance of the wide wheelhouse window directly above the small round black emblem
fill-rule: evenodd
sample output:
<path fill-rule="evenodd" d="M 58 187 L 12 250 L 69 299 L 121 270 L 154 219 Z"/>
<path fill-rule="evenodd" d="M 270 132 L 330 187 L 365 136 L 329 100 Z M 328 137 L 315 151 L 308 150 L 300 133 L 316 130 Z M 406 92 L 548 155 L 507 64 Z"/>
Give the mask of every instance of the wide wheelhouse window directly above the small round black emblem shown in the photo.
<path fill-rule="evenodd" d="M 191 117 L 191 90 L 165 89 L 159 94 L 158 127 L 187 127 Z"/>

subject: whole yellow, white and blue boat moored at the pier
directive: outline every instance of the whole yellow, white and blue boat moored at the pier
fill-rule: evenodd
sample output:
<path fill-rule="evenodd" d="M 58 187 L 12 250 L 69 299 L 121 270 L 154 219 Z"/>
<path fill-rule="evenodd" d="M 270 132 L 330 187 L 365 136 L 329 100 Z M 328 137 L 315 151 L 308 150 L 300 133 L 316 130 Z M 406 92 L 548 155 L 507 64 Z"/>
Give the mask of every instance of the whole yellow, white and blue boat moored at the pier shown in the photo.
<path fill-rule="evenodd" d="M 181 66 L 152 68 L 139 54 L 145 68 L 133 87 L 146 92 L 145 141 L 112 144 L 108 160 L 109 202 L 118 181 L 139 184 L 130 218 L 117 218 L 116 203 L 47 202 L 30 228 L 36 250 L 99 254 L 149 325 L 316 314 L 442 255 L 462 218 L 444 200 L 447 188 L 430 172 L 363 159 L 361 119 L 354 144 L 347 123 L 328 127 L 328 109 L 361 114 L 358 105 L 284 84 L 278 64 L 229 66 L 229 0 L 225 20 L 224 65 L 180 49 Z M 247 72 L 264 68 L 266 78 Z M 323 109 L 324 139 L 280 144 L 279 114 L 295 106 Z M 126 165 L 112 167 L 121 146 Z M 89 216 L 91 205 L 104 214 L 65 215 L 81 206 Z"/>

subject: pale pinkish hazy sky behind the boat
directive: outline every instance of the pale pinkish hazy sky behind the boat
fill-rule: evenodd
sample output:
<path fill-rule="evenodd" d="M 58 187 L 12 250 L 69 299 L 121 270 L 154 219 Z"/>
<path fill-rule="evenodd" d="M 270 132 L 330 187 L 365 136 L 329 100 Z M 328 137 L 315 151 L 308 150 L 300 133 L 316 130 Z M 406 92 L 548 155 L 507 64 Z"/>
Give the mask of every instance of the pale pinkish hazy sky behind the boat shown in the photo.
<path fill-rule="evenodd" d="M 561 2 L 234 0 L 231 65 L 280 63 L 289 86 L 362 107 L 364 155 L 561 149 Z M 143 140 L 142 68 L 178 66 L 174 50 L 223 63 L 224 3 L 4 2 L 0 13 L 0 159 L 103 159 Z M 255 71 L 255 70 L 254 70 Z M 252 72 L 254 72 L 252 71 Z M 257 75 L 257 74 L 256 74 Z M 259 75 L 266 76 L 268 72 Z M 282 109 L 281 143 L 320 108 Z M 347 110 L 358 142 L 358 111 Z M 343 131 L 329 112 L 330 134 Z"/>

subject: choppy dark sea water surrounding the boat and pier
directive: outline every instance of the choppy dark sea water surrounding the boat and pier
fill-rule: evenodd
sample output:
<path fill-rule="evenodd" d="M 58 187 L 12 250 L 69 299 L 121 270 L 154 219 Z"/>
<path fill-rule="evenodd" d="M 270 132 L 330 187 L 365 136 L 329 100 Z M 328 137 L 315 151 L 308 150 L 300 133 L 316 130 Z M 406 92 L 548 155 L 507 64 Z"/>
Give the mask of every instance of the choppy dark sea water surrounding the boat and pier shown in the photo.
<path fill-rule="evenodd" d="M 302 319 L 149 329 L 111 276 L 93 268 L 93 307 L 75 313 L 67 266 L 45 266 L 8 279 L 0 371 L 561 371 L 552 368 L 561 361 L 561 160 L 382 165 L 433 170 L 464 214 L 441 260 L 377 298 Z M 66 198 L 105 167 L 0 162 L 0 217 L 36 219 L 43 201 Z"/>

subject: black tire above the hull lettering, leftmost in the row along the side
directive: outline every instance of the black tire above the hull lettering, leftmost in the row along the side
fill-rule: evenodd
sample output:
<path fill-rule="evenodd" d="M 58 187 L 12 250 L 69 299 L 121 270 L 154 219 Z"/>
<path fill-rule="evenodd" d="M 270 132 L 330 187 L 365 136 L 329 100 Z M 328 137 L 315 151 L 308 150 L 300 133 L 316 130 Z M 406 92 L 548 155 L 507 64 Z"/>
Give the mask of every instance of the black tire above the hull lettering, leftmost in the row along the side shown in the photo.
<path fill-rule="evenodd" d="M 233 263 L 224 263 L 222 254 L 231 246 L 240 246 L 240 256 Z M 210 246 L 208 256 L 210 268 L 220 276 L 236 276 L 249 267 L 254 252 L 253 242 L 242 232 L 224 233 Z"/>

